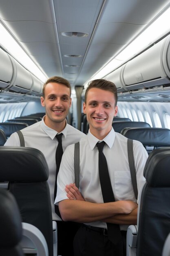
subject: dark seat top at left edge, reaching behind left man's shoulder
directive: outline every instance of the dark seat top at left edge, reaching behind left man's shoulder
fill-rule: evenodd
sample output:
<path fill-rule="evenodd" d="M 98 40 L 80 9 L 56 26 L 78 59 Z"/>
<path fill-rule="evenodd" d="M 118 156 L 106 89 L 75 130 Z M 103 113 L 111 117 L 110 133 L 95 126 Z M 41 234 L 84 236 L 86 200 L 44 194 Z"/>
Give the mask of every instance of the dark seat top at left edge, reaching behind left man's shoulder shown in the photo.
<path fill-rule="evenodd" d="M 4 131 L 7 139 L 11 136 L 13 132 L 24 129 L 28 126 L 28 124 L 22 123 L 0 123 L 0 129 Z"/>

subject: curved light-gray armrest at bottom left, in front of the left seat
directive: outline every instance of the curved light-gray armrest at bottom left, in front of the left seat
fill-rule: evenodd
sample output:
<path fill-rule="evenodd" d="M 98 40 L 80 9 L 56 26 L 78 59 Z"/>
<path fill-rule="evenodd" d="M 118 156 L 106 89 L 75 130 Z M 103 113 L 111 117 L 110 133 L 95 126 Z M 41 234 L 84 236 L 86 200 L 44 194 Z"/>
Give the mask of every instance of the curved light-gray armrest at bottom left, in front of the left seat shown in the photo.
<path fill-rule="evenodd" d="M 36 253 L 37 256 L 49 256 L 44 235 L 35 226 L 22 222 L 22 240 L 20 246 L 24 254 Z"/>

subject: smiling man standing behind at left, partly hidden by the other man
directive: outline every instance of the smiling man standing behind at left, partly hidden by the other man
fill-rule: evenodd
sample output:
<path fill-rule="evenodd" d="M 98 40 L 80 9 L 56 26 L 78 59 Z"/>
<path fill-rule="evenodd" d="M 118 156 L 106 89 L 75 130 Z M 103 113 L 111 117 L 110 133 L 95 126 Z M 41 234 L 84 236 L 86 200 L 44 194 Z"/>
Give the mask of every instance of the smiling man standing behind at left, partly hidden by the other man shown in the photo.
<path fill-rule="evenodd" d="M 71 107 L 71 85 L 66 79 L 59 76 L 49 78 L 43 86 L 41 104 L 46 110 L 46 115 L 43 117 L 42 121 L 26 127 L 21 131 L 24 136 L 25 146 L 39 149 L 46 158 L 46 162 L 49 166 L 48 183 L 51 193 L 53 220 L 57 221 L 58 255 L 66 256 L 68 252 L 67 250 L 69 249 L 69 255 L 72 256 L 73 237 L 77 229 L 77 224 L 63 222 L 55 213 L 54 207 L 54 198 L 56 196 L 56 194 L 54 195 L 56 168 L 59 167 L 55 162 L 58 157 L 55 155 L 58 146 L 56 135 L 62 133 L 63 151 L 68 145 L 78 142 L 86 135 L 67 124 L 66 116 Z M 18 134 L 14 132 L 4 146 L 20 146 Z M 70 239 L 66 247 L 65 236 L 70 230 Z"/>

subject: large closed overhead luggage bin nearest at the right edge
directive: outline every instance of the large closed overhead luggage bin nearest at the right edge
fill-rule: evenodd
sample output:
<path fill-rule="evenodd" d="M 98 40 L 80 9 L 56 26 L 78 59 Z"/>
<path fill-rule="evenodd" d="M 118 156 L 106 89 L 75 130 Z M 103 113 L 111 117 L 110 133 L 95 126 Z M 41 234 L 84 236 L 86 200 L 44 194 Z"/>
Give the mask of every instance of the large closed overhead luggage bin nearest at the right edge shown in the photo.
<path fill-rule="evenodd" d="M 128 90 L 170 83 L 170 36 L 128 61 L 123 81 Z"/>

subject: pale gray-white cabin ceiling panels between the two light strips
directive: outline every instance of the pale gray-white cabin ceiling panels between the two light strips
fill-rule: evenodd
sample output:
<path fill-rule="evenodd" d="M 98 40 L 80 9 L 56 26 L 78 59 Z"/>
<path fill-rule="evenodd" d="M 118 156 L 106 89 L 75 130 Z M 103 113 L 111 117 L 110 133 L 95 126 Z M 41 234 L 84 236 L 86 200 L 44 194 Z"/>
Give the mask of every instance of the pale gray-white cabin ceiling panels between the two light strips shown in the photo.
<path fill-rule="evenodd" d="M 168 4 L 169 0 L 0 0 L 0 18 L 47 76 L 63 76 L 74 86 L 90 79 Z M 65 37 L 61 32 L 89 35 Z"/>

